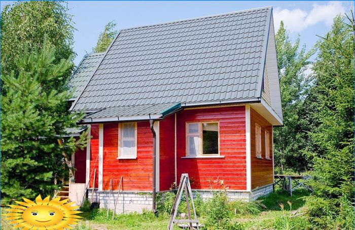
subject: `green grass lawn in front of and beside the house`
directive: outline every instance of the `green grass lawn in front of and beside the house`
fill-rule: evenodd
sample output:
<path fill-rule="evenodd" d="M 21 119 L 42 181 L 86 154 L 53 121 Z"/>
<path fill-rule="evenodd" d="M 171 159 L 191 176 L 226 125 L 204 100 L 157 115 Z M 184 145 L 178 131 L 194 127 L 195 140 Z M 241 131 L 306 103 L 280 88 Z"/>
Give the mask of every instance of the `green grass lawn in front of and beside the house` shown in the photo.
<path fill-rule="evenodd" d="M 303 198 L 307 195 L 309 193 L 305 190 L 296 190 L 293 196 L 290 197 L 287 192 L 278 190 L 260 199 L 264 207 L 258 212 L 248 213 L 246 211 L 243 214 L 233 215 L 232 221 L 240 223 L 243 229 L 282 229 L 275 227 L 275 221 L 280 216 L 289 216 L 291 214 L 288 201 L 292 203 L 292 210 L 303 209 L 305 208 Z M 282 211 L 279 204 L 282 204 L 285 210 Z M 114 220 L 112 220 L 112 212 L 110 211 L 109 218 L 106 217 L 106 213 L 107 210 L 95 209 L 80 214 L 83 217 L 83 221 L 75 229 L 166 229 L 169 222 L 167 214 L 161 214 L 157 217 L 152 212 L 143 214 L 130 213 L 116 215 Z M 199 221 L 203 223 L 204 218 L 199 217 Z M 11 229 L 11 226 L 4 222 L 3 218 L 1 226 L 1 229 L 4 230 Z M 175 226 L 174 229 L 182 228 Z"/>

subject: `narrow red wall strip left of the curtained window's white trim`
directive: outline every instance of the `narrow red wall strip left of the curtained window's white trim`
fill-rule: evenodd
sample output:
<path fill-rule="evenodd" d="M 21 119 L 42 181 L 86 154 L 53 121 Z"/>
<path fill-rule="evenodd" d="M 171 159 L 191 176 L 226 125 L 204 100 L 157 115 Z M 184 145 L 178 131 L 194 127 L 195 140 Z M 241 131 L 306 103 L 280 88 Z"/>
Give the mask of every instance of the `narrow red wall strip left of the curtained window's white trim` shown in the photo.
<path fill-rule="evenodd" d="M 98 187 L 98 124 L 91 125 L 91 136 L 90 139 L 90 184 L 89 187 L 92 188 L 94 180 L 94 169 L 96 169 L 95 176 L 95 188 Z"/>

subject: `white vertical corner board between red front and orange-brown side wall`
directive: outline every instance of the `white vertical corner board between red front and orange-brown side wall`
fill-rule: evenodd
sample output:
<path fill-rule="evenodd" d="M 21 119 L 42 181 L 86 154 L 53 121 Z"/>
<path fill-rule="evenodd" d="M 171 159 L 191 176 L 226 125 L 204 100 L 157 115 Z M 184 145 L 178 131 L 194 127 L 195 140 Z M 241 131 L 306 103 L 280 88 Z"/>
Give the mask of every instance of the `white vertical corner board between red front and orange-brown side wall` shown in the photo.
<path fill-rule="evenodd" d="M 246 159 L 246 191 L 252 190 L 252 148 L 250 106 L 245 106 L 245 159 Z"/>

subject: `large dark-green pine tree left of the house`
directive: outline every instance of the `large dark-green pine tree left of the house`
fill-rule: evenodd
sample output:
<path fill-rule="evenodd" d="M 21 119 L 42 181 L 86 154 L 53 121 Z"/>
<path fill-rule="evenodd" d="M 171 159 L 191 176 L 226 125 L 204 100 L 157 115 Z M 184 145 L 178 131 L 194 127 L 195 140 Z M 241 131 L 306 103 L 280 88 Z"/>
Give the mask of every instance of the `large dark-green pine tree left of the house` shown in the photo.
<path fill-rule="evenodd" d="M 65 75 L 72 59 L 56 61 L 56 49 L 46 42 L 40 51 L 27 48 L 15 61 L 16 74 L 2 76 L 6 95 L 1 98 L 2 202 L 21 196 L 53 194 L 54 181 L 64 173 L 62 152 L 74 153 L 86 144 L 69 138 L 59 146 L 65 129 L 75 127 L 81 114 L 70 113 Z M 83 141 L 84 140 L 84 141 Z"/>

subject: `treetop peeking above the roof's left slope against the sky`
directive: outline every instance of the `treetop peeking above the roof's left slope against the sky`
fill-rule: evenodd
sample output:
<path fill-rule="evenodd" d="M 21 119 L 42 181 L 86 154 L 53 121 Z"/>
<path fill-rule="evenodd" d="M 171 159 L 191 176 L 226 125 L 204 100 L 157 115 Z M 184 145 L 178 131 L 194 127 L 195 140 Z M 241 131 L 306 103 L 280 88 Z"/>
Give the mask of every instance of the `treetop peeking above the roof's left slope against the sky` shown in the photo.
<path fill-rule="evenodd" d="M 93 48 L 93 52 L 100 53 L 107 50 L 107 48 L 111 45 L 112 41 L 114 41 L 118 31 L 115 29 L 116 23 L 113 21 L 109 22 L 105 25 L 104 30 L 100 33 L 97 44 Z"/>

